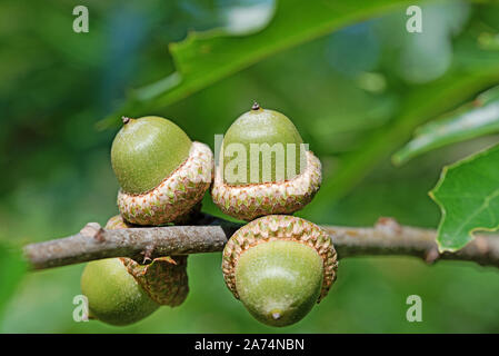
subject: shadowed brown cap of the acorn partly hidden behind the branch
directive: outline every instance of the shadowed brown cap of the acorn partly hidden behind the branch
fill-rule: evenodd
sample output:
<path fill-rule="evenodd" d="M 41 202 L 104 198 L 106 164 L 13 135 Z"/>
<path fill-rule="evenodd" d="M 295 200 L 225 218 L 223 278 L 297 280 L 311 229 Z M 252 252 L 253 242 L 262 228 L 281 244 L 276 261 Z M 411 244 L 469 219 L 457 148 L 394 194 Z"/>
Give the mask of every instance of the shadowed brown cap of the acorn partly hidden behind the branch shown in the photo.
<path fill-rule="evenodd" d="M 130 227 L 132 226 L 119 215 L 110 218 L 106 225 L 107 229 Z M 159 305 L 176 307 L 181 305 L 189 294 L 187 257 L 158 257 L 148 265 L 140 265 L 126 257 L 119 259 L 152 300 Z"/>

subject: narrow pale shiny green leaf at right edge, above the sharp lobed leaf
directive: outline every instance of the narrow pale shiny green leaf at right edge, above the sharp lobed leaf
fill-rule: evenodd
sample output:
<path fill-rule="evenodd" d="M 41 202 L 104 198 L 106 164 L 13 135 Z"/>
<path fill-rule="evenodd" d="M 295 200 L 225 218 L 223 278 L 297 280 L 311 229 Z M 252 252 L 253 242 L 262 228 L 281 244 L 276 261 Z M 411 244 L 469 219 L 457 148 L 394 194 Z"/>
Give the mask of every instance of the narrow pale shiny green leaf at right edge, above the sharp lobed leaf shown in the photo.
<path fill-rule="evenodd" d="M 392 161 L 402 165 L 436 148 L 498 131 L 499 87 L 495 87 L 443 119 L 420 127 L 415 138 L 393 155 Z"/>

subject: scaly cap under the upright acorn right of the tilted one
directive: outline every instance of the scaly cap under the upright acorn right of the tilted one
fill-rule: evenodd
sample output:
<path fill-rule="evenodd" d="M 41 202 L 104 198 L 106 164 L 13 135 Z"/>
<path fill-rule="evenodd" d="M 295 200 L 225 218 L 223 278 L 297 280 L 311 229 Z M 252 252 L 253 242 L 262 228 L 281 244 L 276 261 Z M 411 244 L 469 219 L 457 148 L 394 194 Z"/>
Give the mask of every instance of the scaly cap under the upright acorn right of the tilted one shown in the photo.
<path fill-rule="evenodd" d="M 292 214 L 309 204 L 320 188 L 321 164 L 307 151 L 307 167 L 293 179 L 279 182 L 231 186 L 223 182 L 221 169 L 214 172 L 211 196 L 227 215 L 250 221 L 271 214 Z"/>

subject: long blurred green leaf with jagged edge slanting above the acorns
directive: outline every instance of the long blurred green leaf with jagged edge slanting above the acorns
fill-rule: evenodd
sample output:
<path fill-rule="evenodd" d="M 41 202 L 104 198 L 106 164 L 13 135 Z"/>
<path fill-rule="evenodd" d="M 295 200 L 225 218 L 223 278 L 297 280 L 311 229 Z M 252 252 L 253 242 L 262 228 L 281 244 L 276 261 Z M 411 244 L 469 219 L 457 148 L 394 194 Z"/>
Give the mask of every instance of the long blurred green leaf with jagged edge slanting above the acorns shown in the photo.
<path fill-rule="evenodd" d="M 413 1 L 286 0 L 278 2 L 272 21 L 257 33 L 190 32 L 183 41 L 170 43 L 177 71 L 150 86 L 132 90 L 123 107 L 100 121 L 98 127 L 113 126 L 124 113 L 140 113 L 146 108 L 149 112 L 156 111 L 269 56 L 408 4 L 413 4 Z"/>

